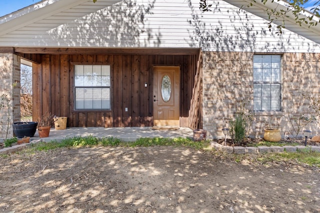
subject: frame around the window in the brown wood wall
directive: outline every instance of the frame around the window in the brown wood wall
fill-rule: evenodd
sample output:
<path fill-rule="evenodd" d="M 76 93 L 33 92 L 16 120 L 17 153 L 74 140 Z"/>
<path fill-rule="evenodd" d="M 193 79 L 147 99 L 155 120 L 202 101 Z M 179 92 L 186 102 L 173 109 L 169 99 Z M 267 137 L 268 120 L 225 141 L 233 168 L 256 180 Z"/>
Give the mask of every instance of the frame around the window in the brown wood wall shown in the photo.
<path fill-rule="evenodd" d="M 72 93 L 73 93 L 73 101 L 72 101 L 72 109 L 73 112 L 111 112 L 112 111 L 112 64 L 110 63 L 71 63 L 72 65 Z M 75 86 L 75 66 L 76 65 L 107 65 L 110 66 L 110 85 L 109 86 Z M 75 90 L 76 88 L 109 88 L 110 90 L 110 109 L 76 109 L 76 94 L 75 94 Z"/>

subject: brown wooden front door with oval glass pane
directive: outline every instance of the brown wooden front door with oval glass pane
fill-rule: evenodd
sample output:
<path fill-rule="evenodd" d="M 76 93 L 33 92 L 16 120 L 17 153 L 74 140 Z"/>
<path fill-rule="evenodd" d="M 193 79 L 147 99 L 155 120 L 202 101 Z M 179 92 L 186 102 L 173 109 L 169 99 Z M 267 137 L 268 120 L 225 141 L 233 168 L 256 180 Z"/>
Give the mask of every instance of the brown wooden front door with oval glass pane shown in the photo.
<path fill-rule="evenodd" d="M 179 126 L 180 68 L 153 67 L 153 125 Z"/>

